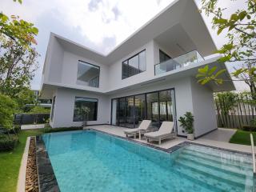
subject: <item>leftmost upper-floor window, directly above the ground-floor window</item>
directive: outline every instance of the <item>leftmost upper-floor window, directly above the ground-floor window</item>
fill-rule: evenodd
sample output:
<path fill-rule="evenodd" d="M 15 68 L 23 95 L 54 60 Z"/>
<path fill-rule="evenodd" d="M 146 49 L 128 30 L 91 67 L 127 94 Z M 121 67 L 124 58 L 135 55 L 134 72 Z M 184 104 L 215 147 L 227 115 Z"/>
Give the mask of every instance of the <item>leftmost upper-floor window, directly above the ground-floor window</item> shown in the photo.
<path fill-rule="evenodd" d="M 77 84 L 82 86 L 99 86 L 99 66 L 88 62 L 78 61 Z"/>

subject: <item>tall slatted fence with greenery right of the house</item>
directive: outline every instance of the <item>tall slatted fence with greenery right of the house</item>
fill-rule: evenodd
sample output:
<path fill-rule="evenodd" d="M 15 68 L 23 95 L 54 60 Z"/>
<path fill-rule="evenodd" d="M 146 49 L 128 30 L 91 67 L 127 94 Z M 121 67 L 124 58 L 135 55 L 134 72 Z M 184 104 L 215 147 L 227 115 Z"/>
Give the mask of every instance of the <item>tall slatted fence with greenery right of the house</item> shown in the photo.
<path fill-rule="evenodd" d="M 251 94 L 214 94 L 218 127 L 242 129 L 252 126 L 256 115 L 256 101 Z"/>

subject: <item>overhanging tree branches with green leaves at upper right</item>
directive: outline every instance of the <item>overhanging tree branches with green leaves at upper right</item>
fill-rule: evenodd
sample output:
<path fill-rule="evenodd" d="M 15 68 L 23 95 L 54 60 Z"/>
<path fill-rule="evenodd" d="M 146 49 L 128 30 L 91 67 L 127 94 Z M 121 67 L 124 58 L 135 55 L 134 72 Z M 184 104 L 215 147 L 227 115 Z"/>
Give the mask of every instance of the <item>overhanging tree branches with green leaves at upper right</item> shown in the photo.
<path fill-rule="evenodd" d="M 223 55 L 218 62 L 242 62 L 242 67 L 236 67 L 232 75 L 246 82 L 253 96 L 256 93 L 256 0 L 247 0 L 246 9 L 236 10 L 229 18 L 224 16 L 225 10 L 218 7 L 218 0 L 202 0 L 201 11 L 207 16 L 213 15 L 213 29 L 217 30 L 217 34 L 227 32 L 228 42 L 216 51 Z M 224 72 L 217 67 L 199 69 L 198 82 L 222 84 L 223 80 L 218 76 Z"/>

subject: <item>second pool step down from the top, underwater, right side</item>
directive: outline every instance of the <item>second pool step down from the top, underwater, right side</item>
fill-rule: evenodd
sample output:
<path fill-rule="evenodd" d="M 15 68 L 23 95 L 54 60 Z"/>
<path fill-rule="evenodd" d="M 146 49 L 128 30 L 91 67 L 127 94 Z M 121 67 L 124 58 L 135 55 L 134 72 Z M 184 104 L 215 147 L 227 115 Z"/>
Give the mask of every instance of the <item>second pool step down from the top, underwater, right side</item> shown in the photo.
<path fill-rule="evenodd" d="M 183 151 L 178 158 L 183 158 L 185 160 L 193 162 L 199 162 L 204 166 L 208 166 L 210 168 L 218 170 L 225 170 L 225 172 L 229 172 L 230 174 L 237 174 L 238 176 L 248 175 L 252 177 L 253 175 L 252 166 L 243 166 L 241 164 L 234 165 L 232 163 L 226 162 L 225 160 L 222 160 L 221 158 L 215 160 L 208 157 L 198 156 L 197 154 L 187 153 L 186 151 Z"/>

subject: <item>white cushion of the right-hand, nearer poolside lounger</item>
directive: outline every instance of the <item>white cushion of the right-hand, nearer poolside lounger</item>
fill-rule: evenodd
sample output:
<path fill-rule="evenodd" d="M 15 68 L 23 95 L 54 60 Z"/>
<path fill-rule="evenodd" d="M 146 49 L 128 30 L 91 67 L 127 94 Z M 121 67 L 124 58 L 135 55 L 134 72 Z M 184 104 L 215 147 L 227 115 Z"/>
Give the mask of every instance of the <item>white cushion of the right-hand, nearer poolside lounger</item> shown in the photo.
<path fill-rule="evenodd" d="M 166 134 L 171 134 L 173 130 L 174 130 L 174 122 L 162 122 L 162 126 L 160 126 L 158 131 L 144 134 L 144 136 L 148 138 L 158 138 Z"/>

